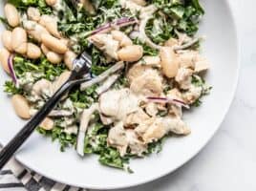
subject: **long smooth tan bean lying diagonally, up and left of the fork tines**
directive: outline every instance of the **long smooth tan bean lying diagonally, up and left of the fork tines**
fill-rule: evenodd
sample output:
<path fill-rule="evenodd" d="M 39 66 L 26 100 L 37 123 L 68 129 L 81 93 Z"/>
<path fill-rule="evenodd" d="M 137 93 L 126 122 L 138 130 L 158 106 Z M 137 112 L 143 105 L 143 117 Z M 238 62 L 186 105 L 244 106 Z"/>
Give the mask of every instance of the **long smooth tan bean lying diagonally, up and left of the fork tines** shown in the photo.
<path fill-rule="evenodd" d="M 55 53 L 66 53 L 68 47 L 50 34 L 42 34 L 42 42 Z"/>

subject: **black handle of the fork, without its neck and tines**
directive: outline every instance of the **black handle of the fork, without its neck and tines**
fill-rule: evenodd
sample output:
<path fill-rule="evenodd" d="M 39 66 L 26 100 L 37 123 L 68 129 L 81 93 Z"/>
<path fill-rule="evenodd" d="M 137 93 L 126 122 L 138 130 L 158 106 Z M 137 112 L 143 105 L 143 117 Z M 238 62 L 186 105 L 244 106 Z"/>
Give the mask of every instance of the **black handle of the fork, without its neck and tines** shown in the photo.
<path fill-rule="evenodd" d="M 32 135 L 33 130 L 53 110 L 53 107 L 71 88 L 73 83 L 67 81 L 61 88 L 44 104 L 44 106 L 32 117 L 32 119 L 11 139 L 11 141 L 0 152 L 0 169 L 11 159 L 12 155 Z"/>

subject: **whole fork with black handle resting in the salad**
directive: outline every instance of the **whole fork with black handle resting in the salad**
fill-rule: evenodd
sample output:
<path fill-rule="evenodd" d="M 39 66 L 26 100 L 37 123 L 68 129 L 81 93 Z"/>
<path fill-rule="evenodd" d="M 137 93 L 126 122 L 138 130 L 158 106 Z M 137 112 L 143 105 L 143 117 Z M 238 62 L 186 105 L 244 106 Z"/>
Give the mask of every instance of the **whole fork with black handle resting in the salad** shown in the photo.
<path fill-rule="evenodd" d="M 54 106 L 75 85 L 91 79 L 92 60 L 88 53 L 81 53 L 73 63 L 72 74 L 69 79 L 54 93 L 45 105 L 32 117 L 32 119 L 11 139 L 0 152 L 0 169 L 11 159 L 12 155 L 32 135 L 33 130 L 53 110 Z"/>

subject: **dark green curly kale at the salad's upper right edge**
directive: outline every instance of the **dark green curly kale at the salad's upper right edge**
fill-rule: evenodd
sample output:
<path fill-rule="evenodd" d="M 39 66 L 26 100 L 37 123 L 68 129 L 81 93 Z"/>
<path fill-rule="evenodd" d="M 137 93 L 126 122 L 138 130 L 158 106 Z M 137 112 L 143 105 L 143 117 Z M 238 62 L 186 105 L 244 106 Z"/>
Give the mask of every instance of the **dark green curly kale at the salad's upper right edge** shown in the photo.
<path fill-rule="evenodd" d="M 159 25 L 160 30 L 157 36 L 151 35 L 154 42 L 162 42 L 167 37 L 175 35 L 175 29 L 191 36 L 198 31 L 199 20 L 204 13 L 199 0 L 151 0 L 150 2 L 155 4 L 167 16 L 165 19 L 168 23 L 168 28 L 164 24 Z M 155 15 L 155 19 L 159 19 L 158 13 Z M 147 33 L 156 28 L 154 23 L 154 21 L 151 21 L 147 25 Z"/>

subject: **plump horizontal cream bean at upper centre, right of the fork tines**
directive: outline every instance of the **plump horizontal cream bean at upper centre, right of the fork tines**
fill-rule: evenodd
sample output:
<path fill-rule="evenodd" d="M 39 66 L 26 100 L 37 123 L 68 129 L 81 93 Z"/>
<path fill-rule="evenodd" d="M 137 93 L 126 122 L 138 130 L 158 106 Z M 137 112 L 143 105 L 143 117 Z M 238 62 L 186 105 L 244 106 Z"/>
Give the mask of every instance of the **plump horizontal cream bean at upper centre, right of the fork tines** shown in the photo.
<path fill-rule="evenodd" d="M 121 61 L 135 62 L 143 55 L 143 48 L 139 45 L 127 46 L 117 52 L 118 58 Z"/>

